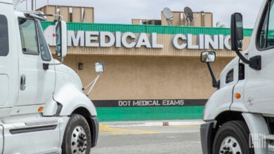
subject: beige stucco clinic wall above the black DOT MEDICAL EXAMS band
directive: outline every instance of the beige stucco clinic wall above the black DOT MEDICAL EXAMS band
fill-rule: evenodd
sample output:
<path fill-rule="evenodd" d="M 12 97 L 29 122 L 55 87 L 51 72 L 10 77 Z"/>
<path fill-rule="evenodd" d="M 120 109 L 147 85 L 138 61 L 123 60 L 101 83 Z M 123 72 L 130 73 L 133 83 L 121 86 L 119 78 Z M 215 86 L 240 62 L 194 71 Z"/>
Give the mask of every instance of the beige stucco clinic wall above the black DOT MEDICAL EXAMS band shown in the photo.
<path fill-rule="evenodd" d="M 105 72 L 89 95 L 93 100 L 208 99 L 216 89 L 211 85 L 207 65 L 200 62 L 204 50 L 178 50 L 171 44 L 174 35 L 157 36 L 164 48 L 68 47 L 64 63 L 79 74 L 86 86 L 96 78 L 94 63 L 105 62 Z M 196 37 L 193 36 L 194 44 Z M 246 37 L 244 50 L 248 44 Z M 54 48 L 51 47 L 51 51 Z M 236 55 L 226 49 L 214 51 L 216 62 L 211 65 L 218 78 Z M 84 64 L 84 70 L 78 69 L 80 62 Z"/>

